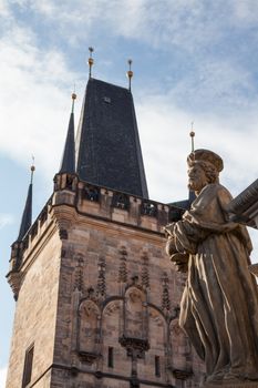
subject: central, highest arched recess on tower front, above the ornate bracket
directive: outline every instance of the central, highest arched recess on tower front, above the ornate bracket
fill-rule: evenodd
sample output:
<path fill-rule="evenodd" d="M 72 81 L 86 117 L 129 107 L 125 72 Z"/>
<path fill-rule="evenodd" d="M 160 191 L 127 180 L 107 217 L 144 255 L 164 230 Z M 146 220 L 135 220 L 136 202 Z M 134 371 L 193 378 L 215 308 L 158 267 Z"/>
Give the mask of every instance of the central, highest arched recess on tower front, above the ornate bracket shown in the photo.
<path fill-rule="evenodd" d="M 140 287 L 126 289 L 124 298 L 125 337 L 147 339 L 147 303 L 146 293 Z"/>

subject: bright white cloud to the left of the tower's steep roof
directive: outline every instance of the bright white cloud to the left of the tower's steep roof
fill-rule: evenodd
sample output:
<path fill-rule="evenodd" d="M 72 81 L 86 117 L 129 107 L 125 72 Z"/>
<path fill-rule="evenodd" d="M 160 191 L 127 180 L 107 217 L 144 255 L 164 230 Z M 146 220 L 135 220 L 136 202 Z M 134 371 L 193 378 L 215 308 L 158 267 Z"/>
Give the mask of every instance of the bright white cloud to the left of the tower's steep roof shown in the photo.
<path fill-rule="evenodd" d="M 41 51 L 28 28 L 13 27 L 6 34 L 0 57 L 0 150 L 22 163 L 33 154 L 39 171 L 53 174 L 68 127 L 69 94 L 78 74 L 66 68 L 60 51 Z"/>

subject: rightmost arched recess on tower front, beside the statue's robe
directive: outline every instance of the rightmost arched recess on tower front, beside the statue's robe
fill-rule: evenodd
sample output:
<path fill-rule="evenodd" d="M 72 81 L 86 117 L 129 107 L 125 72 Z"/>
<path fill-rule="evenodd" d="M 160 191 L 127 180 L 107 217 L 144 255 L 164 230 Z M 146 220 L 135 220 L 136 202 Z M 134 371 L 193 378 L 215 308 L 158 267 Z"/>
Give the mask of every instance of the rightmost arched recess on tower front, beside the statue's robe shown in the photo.
<path fill-rule="evenodd" d="M 172 347 L 172 371 L 174 375 L 177 372 L 189 374 L 192 370 L 192 348 L 189 339 L 179 327 L 178 319 L 171 321 L 169 341 Z"/>

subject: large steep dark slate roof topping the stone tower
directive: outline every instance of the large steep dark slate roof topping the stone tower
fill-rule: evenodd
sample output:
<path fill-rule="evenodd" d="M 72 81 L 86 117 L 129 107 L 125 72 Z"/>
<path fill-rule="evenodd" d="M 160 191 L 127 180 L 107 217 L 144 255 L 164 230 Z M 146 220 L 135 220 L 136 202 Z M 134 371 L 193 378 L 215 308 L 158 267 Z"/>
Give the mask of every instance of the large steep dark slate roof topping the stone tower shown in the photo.
<path fill-rule="evenodd" d="M 148 197 L 130 90 L 90 78 L 75 149 L 82 180 Z"/>

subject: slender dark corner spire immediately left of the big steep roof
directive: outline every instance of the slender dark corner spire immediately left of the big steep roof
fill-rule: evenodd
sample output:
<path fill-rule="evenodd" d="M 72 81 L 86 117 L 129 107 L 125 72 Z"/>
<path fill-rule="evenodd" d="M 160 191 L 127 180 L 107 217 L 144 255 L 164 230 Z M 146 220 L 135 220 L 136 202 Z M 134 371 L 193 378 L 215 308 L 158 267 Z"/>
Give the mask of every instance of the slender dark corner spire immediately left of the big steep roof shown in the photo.
<path fill-rule="evenodd" d="M 72 94 L 72 111 L 69 121 L 68 135 L 63 150 L 63 157 L 61 161 L 60 173 L 75 173 L 75 143 L 74 143 L 74 101 L 76 94 Z"/>

